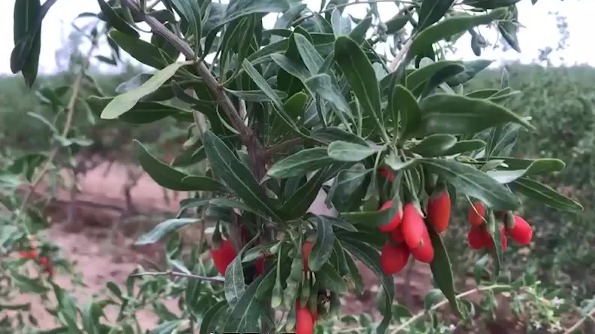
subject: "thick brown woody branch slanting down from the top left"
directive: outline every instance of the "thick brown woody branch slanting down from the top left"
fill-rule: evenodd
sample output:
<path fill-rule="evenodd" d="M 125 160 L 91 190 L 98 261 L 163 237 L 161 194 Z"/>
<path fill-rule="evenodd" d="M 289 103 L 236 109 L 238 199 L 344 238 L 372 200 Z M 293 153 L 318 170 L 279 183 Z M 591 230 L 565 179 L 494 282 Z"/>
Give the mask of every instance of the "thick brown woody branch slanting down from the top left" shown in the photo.
<path fill-rule="evenodd" d="M 209 89 L 215 95 L 217 104 L 219 104 L 223 112 L 227 115 L 227 117 L 229 117 L 233 127 L 240 133 L 242 141 L 245 144 L 248 143 L 253 135 L 252 129 L 244 124 L 244 121 L 242 121 L 242 118 L 240 117 L 236 107 L 233 105 L 233 102 L 229 99 L 227 94 L 225 94 L 219 85 L 219 82 L 213 76 L 213 74 L 211 74 L 211 71 L 209 71 L 203 61 L 201 59 L 197 59 L 197 55 L 194 53 L 194 50 L 192 50 L 190 45 L 167 29 L 167 27 L 159 22 L 159 20 L 152 16 L 146 15 L 140 6 L 135 2 L 135 0 L 122 0 L 121 3 L 122 5 L 128 7 L 133 14 L 139 15 L 139 17 L 141 17 L 149 25 L 149 27 L 151 27 L 155 34 L 170 42 L 186 57 L 186 59 L 194 61 L 198 75 L 204 80 L 207 87 L 209 87 Z"/>

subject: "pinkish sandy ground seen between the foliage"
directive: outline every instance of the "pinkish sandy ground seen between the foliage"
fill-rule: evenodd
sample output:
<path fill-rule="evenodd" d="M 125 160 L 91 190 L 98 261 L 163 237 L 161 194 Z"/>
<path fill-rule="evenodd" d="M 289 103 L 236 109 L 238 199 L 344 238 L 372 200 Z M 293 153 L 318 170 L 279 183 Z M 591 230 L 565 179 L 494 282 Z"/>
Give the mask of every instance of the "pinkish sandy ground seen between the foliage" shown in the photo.
<path fill-rule="evenodd" d="M 109 174 L 103 175 L 106 166 L 100 166 L 79 181 L 81 193 L 77 199 L 87 203 L 100 203 L 111 207 L 124 208 L 125 200 L 122 187 L 127 180 L 127 167 L 114 165 Z M 132 189 L 134 204 L 139 212 L 176 212 L 177 202 L 167 204 L 163 198 L 163 189 L 150 177 L 143 175 L 138 185 Z M 171 196 L 171 194 L 170 194 Z M 68 194 L 59 194 L 62 204 L 54 207 L 52 216 L 59 222 L 64 217 L 65 206 L 69 200 Z M 153 257 L 158 254 L 158 249 L 135 249 L 132 245 L 133 238 L 130 232 L 110 234 L 112 224 L 118 224 L 118 213 L 115 210 L 81 205 L 76 210 L 73 226 L 66 226 L 63 223 L 52 224 L 49 230 L 51 240 L 58 244 L 64 254 L 70 260 L 77 263 L 78 271 L 84 275 L 86 288 L 77 288 L 74 292 L 75 298 L 84 302 L 93 295 L 105 293 L 105 284 L 108 281 L 123 283 L 127 275 L 139 264 L 143 258 Z M 151 224 L 158 221 L 147 222 L 146 227 L 141 226 L 140 230 L 148 230 Z M 137 227 L 138 228 L 138 227 Z M 120 226 L 116 230 L 121 232 Z M 139 232 L 139 231 L 136 231 Z M 128 235 L 126 235 L 128 234 Z M 360 314 L 376 309 L 376 294 L 378 289 L 377 280 L 366 268 L 362 267 L 362 276 L 367 286 L 367 291 L 362 296 L 350 296 L 345 303 L 345 314 Z M 403 291 L 411 292 L 410 302 L 414 305 L 421 304 L 422 296 L 430 287 L 430 273 L 427 265 L 417 264 L 411 273 L 412 285 L 407 289 L 403 286 L 403 275 L 397 277 L 398 298 L 404 300 Z M 57 282 L 69 289 L 72 287 L 69 277 L 58 275 Z M 53 327 L 52 317 L 43 311 L 41 305 L 31 296 L 19 296 L 16 302 L 31 302 L 40 327 L 47 329 Z M 165 305 L 175 312 L 176 301 L 165 301 Z M 107 309 L 108 318 L 114 318 L 115 310 Z M 156 324 L 156 317 L 150 311 L 143 311 L 138 318 L 144 328 L 152 328 Z"/>

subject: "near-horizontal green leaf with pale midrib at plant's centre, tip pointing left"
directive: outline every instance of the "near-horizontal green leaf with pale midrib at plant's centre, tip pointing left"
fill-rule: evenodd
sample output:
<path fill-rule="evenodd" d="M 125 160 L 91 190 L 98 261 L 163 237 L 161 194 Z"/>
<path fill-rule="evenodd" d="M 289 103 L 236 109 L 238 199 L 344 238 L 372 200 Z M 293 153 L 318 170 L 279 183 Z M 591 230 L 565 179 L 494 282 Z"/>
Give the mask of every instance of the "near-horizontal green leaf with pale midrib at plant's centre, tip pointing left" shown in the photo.
<path fill-rule="evenodd" d="M 332 163 L 333 159 L 328 156 L 326 148 L 315 147 L 301 150 L 275 163 L 269 168 L 267 175 L 274 178 L 300 176 Z"/>

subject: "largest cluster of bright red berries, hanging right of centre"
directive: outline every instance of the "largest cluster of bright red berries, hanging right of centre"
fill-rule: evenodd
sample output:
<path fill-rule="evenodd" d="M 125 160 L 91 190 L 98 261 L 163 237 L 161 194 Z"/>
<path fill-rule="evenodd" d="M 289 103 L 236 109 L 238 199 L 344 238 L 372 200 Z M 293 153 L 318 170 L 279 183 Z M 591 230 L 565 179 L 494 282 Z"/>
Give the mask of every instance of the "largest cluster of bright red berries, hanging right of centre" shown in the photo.
<path fill-rule="evenodd" d="M 380 168 L 379 174 L 389 181 L 394 181 L 394 174 L 386 168 Z M 392 201 L 384 203 L 380 210 L 388 210 L 394 205 Z M 437 233 L 442 233 L 450 221 L 451 201 L 446 189 L 431 196 L 427 206 L 427 217 L 424 220 L 420 209 L 409 202 L 401 209 L 398 203 L 395 216 L 379 227 L 381 232 L 389 233 L 389 240 L 384 244 L 380 254 L 382 270 L 393 275 L 405 268 L 410 256 L 424 263 L 434 259 L 434 247 L 428 232 L 428 224 Z"/>

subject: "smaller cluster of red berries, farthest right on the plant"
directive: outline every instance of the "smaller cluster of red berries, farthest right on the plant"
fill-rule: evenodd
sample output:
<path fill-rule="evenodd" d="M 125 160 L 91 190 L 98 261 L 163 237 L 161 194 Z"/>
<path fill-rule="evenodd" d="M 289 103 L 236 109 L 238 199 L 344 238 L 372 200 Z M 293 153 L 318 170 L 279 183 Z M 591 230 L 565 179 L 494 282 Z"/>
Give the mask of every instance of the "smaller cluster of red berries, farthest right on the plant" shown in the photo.
<path fill-rule="evenodd" d="M 486 229 L 486 208 L 481 202 L 474 202 L 467 212 L 467 220 L 471 224 L 467 233 L 467 241 L 473 249 L 494 248 L 494 242 Z M 497 215 L 501 218 L 502 214 Z M 525 219 L 520 216 L 506 213 L 503 215 L 503 225 L 500 226 L 500 239 L 502 250 L 506 250 L 508 237 L 519 245 L 527 245 L 533 238 L 533 229 Z"/>

